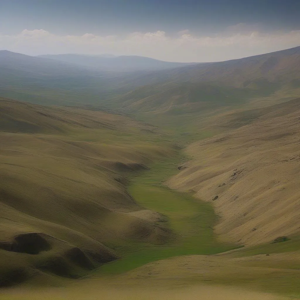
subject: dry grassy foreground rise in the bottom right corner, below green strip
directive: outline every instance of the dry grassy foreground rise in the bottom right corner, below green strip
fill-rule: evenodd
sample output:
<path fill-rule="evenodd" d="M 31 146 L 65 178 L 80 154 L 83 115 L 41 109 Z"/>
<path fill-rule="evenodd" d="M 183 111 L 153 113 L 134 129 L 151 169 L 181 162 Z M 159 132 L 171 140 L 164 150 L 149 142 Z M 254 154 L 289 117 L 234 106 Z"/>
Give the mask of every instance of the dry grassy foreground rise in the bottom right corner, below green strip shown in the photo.
<path fill-rule="evenodd" d="M 285 243 L 262 244 L 210 256 L 179 256 L 144 265 L 121 280 L 144 289 L 149 285 L 160 286 L 161 294 L 169 290 L 172 293 L 171 286 L 177 286 L 174 297 L 182 298 L 190 295 L 192 299 L 203 300 L 298 299 L 299 244 L 299 237 L 295 237 Z M 249 295 L 250 291 L 257 294 Z"/>

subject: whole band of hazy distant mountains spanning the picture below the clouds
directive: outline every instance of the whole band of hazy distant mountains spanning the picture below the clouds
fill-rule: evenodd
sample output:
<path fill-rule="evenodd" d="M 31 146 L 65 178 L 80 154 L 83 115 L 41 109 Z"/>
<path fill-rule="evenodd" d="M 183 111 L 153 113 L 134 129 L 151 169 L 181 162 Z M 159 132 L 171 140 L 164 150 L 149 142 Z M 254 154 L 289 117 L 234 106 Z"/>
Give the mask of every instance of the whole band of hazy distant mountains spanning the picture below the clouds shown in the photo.
<path fill-rule="evenodd" d="M 198 112 L 272 95 L 290 99 L 300 90 L 299 78 L 300 47 L 193 65 L 139 56 L 32 57 L 0 51 L 3 97 L 46 105 L 94 105 L 128 113 Z"/>

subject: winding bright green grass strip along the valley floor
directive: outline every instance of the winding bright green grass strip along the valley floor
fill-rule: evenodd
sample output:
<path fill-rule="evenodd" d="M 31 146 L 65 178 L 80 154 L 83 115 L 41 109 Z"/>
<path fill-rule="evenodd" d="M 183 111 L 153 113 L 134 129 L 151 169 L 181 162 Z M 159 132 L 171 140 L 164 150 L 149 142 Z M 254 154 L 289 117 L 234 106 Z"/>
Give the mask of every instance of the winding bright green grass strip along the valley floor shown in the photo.
<path fill-rule="evenodd" d="M 177 158 L 176 163 L 181 160 Z M 212 227 L 217 221 L 212 205 L 188 194 L 182 194 L 163 186 L 161 181 L 178 172 L 174 159 L 152 166 L 133 178 L 128 190 L 142 207 L 158 211 L 169 218 L 167 226 L 176 237 L 166 244 L 131 242 L 115 247 L 124 253 L 122 259 L 103 265 L 101 274 L 120 274 L 148 262 L 173 256 L 214 254 L 235 248 L 216 240 Z M 97 272 L 98 272 L 97 271 Z"/>

